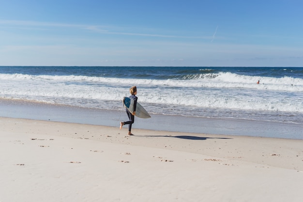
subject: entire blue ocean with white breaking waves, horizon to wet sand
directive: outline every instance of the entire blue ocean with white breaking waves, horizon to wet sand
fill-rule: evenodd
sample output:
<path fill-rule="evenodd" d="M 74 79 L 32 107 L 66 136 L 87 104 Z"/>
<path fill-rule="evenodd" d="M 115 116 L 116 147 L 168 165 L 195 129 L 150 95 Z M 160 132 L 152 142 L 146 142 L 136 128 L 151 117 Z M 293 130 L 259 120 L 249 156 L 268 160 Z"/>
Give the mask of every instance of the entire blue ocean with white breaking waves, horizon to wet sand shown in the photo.
<path fill-rule="evenodd" d="M 2 99 L 124 111 L 134 85 L 151 115 L 303 125 L 303 67 L 0 66 Z"/>

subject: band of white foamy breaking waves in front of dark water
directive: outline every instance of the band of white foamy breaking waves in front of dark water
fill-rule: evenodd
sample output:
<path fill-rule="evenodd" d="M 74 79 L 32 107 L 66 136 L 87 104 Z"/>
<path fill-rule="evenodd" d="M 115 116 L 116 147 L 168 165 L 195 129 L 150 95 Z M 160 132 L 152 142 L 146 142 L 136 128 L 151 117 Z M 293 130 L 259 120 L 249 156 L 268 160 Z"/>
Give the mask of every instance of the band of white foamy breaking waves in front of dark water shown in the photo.
<path fill-rule="evenodd" d="M 183 80 L 0 74 L 0 97 L 80 106 L 91 100 L 93 107 L 99 101 L 120 101 L 132 85 L 138 87 L 140 102 L 155 105 L 303 112 L 303 79 L 232 73 Z"/>

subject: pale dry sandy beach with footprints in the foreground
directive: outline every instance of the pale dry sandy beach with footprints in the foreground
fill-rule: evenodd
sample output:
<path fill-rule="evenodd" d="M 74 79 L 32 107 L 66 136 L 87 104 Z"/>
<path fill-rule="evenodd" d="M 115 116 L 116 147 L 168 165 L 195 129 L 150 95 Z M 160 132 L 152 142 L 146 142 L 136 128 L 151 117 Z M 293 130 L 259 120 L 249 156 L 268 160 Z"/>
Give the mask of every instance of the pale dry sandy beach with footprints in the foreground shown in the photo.
<path fill-rule="evenodd" d="M 0 118 L 0 202 L 302 202 L 303 140 Z"/>

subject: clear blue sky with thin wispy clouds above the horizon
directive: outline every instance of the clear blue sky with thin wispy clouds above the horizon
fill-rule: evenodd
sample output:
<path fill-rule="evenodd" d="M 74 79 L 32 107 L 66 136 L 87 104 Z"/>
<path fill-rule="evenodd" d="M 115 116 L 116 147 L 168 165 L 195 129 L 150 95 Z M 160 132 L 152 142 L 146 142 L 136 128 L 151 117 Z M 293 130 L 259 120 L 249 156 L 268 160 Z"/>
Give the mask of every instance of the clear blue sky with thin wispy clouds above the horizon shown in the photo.
<path fill-rule="evenodd" d="M 302 0 L 0 0 L 0 66 L 303 67 Z"/>

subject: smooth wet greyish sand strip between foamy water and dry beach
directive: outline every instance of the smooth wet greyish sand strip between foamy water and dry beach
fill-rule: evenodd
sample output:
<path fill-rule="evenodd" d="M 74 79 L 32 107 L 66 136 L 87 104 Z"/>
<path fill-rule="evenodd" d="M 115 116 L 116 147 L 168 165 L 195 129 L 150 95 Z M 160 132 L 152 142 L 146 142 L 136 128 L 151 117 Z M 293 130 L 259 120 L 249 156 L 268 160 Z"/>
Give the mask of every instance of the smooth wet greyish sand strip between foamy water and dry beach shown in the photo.
<path fill-rule="evenodd" d="M 116 127 L 128 120 L 125 109 L 105 110 L 0 99 L 0 117 Z M 221 134 L 303 140 L 303 125 L 267 121 L 185 117 L 152 114 L 150 119 L 135 118 L 133 128 L 155 131 Z"/>

